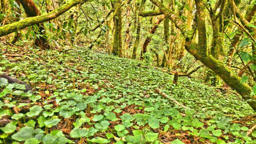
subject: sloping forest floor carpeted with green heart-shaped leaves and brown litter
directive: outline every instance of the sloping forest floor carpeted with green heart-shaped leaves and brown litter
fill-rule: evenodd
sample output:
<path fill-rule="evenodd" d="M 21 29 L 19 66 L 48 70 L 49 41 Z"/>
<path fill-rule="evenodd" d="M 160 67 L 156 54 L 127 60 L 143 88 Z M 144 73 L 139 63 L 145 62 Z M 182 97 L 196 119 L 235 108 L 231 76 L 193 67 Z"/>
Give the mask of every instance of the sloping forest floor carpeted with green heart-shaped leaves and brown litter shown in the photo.
<path fill-rule="evenodd" d="M 0 80 L 0 119 L 12 121 L 0 128 L 0 143 L 256 143 L 256 131 L 246 133 L 252 123 L 232 123 L 253 114 L 246 102 L 193 78 L 173 84 L 143 61 L 80 47 L 1 47 L 0 72 L 34 93 Z"/>

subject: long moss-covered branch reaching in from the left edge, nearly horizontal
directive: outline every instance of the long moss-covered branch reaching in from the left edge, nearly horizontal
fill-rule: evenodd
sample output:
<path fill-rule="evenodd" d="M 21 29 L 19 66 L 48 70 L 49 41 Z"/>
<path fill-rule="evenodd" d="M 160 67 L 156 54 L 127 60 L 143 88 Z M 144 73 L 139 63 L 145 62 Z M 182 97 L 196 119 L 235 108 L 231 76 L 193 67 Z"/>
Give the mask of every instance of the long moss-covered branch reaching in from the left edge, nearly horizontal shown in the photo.
<path fill-rule="evenodd" d="M 65 13 L 66 11 L 68 11 L 69 9 L 71 9 L 72 7 L 74 7 L 80 3 L 85 3 L 85 2 L 87 2 L 87 0 L 70 0 L 66 4 L 61 6 L 60 8 L 58 8 L 46 15 L 27 18 L 25 20 L 0 27 L 0 37 L 11 34 L 18 30 L 22 30 L 29 26 L 33 26 L 36 24 L 40 24 L 43 22 L 53 20 L 53 19 L 57 18 L 58 16 L 62 15 L 63 13 Z"/>

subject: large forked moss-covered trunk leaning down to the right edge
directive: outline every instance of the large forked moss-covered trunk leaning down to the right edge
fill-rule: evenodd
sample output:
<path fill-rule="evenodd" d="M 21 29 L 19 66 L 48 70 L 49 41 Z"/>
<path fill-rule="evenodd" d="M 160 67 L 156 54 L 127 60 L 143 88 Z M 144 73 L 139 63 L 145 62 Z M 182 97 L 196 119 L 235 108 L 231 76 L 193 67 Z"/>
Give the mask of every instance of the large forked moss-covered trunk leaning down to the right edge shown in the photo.
<path fill-rule="evenodd" d="M 250 93 L 252 92 L 251 88 L 246 83 L 241 83 L 241 79 L 230 69 L 228 69 L 228 67 L 226 67 L 222 61 L 218 61 L 210 54 L 208 54 L 205 26 L 206 11 L 204 2 L 202 2 L 202 0 L 195 0 L 199 39 L 198 43 L 195 43 L 192 41 L 192 38 L 195 34 L 194 30 L 189 31 L 186 24 L 175 13 L 167 9 L 158 0 L 150 1 L 157 5 L 165 15 L 170 15 L 170 20 L 181 31 L 186 39 L 186 50 L 197 60 L 200 60 L 205 66 L 220 76 L 226 84 L 235 89 L 242 96 L 242 98 L 246 100 L 252 109 L 256 110 L 256 97 L 250 96 Z"/>

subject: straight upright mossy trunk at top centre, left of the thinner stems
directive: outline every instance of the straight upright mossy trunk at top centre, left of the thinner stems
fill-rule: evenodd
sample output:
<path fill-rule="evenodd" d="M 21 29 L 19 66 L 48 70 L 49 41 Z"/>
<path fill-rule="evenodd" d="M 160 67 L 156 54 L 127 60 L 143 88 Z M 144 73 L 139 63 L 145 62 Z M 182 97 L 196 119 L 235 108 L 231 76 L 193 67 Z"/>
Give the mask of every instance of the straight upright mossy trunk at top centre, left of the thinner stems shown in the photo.
<path fill-rule="evenodd" d="M 121 2 L 115 0 L 113 2 L 114 9 L 118 9 Z M 119 8 L 114 18 L 114 35 L 113 35 L 112 54 L 122 57 L 122 9 Z"/>

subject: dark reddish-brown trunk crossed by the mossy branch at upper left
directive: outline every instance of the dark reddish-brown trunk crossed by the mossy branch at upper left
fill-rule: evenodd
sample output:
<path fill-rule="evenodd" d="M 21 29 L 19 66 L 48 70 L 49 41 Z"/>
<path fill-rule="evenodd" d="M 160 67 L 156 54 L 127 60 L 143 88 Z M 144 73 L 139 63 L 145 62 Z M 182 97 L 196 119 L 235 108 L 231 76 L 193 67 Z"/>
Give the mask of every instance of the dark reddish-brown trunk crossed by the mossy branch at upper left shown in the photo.
<path fill-rule="evenodd" d="M 20 2 L 28 17 L 36 17 L 41 15 L 39 10 L 37 9 L 37 6 L 33 2 L 33 0 L 20 0 Z M 35 45 L 37 47 L 40 47 L 43 50 L 48 49 L 49 45 L 46 38 L 41 36 L 43 35 L 43 31 L 45 30 L 43 24 L 38 24 L 38 28 L 39 28 L 39 31 L 38 31 L 39 38 L 36 38 Z"/>

